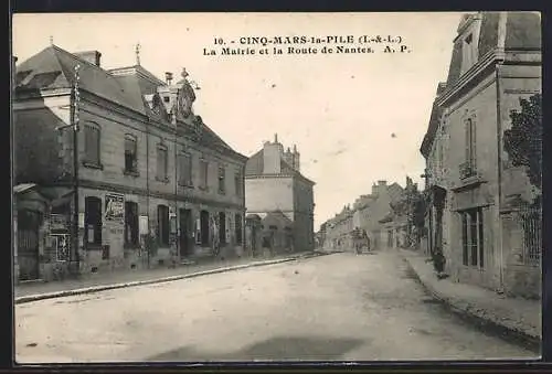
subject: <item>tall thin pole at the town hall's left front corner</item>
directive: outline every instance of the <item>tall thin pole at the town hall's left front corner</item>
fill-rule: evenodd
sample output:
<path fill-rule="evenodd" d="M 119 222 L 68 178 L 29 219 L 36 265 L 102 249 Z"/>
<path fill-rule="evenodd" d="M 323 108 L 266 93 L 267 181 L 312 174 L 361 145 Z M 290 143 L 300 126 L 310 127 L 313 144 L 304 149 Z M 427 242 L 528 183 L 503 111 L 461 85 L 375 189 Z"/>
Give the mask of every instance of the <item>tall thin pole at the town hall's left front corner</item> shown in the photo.
<path fill-rule="evenodd" d="M 81 94 L 78 92 L 78 81 L 81 76 L 78 75 L 78 71 L 81 65 L 76 65 L 74 67 L 75 71 L 75 79 L 73 84 L 73 89 L 71 93 L 71 124 L 59 126 L 55 129 L 61 131 L 67 128 L 73 128 L 73 250 L 71 252 L 70 264 L 75 264 L 75 274 L 79 273 L 81 263 L 78 256 L 78 104 L 81 101 Z"/>

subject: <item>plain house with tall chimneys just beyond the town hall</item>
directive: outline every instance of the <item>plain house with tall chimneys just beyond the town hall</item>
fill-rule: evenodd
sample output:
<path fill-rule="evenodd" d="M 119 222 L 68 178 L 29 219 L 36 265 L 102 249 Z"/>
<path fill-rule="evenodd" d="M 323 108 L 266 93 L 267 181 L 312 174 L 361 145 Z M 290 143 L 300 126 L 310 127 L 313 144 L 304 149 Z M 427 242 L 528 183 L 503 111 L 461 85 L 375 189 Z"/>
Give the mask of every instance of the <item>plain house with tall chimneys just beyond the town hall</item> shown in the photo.
<path fill-rule="evenodd" d="M 274 142 L 265 142 L 245 167 L 247 214 L 261 216 L 265 231 L 273 226 L 273 232 L 291 234 L 290 241 L 277 242 L 278 247 L 274 250 L 309 250 L 315 247 L 315 182 L 300 173 L 299 157 L 295 146 L 293 151 L 289 148 L 284 151 L 276 135 Z M 280 218 L 273 220 L 275 215 Z M 276 243 L 265 236 L 263 246 L 272 245 Z"/>

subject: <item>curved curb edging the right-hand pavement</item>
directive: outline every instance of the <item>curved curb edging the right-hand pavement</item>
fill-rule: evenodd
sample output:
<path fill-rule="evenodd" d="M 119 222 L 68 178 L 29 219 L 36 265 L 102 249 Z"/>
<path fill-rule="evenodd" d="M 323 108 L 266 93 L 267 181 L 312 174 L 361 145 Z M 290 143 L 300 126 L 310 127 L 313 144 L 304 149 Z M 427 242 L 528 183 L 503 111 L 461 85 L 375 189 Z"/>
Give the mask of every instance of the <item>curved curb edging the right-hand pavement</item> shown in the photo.
<path fill-rule="evenodd" d="M 411 265 L 411 263 L 408 261 L 406 256 L 401 254 L 401 257 L 406 263 L 410 273 L 414 276 L 415 281 L 418 282 L 424 288 L 426 293 L 429 293 L 433 297 L 433 299 L 435 299 L 443 307 L 445 307 L 445 309 L 449 310 L 455 316 L 459 317 L 460 319 L 463 319 L 465 321 L 475 323 L 476 325 L 478 325 L 481 329 L 485 329 L 493 334 L 498 334 L 500 338 L 502 338 L 509 342 L 520 344 L 528 350 L 531 350 L 533 352 L 537 352 L 538 354 L 541 354 L 542 339 L 540 336 L 534 336 L 534 335 L 526 333 L 523 331 L 520 331 L 520 330 L 513 329 L 511 327 L 498 323 L 497 321 L 485 318 L 480 314 L 474 313 L 470 310 L 473 308 L 473 306 L 470 303 L 467 303 L 467 308 L 457 307 L 447 297 L 444 297 L 443 295 L 437 292 L 431 285 L 428 285 L 427 282 L 424 282 L 421 279 L 420 275 L 414 269 L 414 267 Z"/>

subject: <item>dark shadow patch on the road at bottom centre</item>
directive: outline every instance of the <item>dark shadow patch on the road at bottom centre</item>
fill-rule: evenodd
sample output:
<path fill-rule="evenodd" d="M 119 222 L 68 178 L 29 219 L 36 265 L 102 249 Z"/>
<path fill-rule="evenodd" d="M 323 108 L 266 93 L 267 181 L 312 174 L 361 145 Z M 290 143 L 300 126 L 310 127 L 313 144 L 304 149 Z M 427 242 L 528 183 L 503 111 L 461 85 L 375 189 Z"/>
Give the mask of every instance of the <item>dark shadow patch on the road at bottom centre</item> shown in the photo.
<path fill-rule="evenodd" d="M 359 339 L 342 338 L 272 338 L 229 353 L 202 352 L 193 346 L 164 352 L 146 361 L 274 361 L 274 360 L 340 360 L 343 354 L 364 343 Z"/>

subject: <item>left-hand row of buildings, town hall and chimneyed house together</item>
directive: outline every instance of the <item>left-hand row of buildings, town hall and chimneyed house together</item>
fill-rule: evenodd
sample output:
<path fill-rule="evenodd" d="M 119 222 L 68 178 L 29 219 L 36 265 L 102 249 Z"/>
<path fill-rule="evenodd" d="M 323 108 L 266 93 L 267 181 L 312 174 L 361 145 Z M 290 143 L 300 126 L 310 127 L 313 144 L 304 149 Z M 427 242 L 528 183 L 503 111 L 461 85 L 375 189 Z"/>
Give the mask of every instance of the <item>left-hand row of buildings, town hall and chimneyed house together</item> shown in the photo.
<path fill-rule="evenodd" d="M 14 279 L 257 253 L 276 243 L 252 227 L 280 213 L 287 250 L 314 244 L 314 182 L 299 172 L 297 149 L 234 150 L 194 113 L 199 87 L 185 70 L 161 81 L 138 54 L 132 66 L 105 70 L 100 52 L 56 45 L 15 62 Z M 278 181 L 287 194 L 274 191 Z"/>

